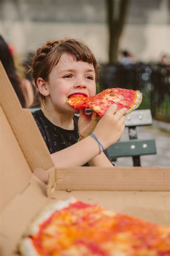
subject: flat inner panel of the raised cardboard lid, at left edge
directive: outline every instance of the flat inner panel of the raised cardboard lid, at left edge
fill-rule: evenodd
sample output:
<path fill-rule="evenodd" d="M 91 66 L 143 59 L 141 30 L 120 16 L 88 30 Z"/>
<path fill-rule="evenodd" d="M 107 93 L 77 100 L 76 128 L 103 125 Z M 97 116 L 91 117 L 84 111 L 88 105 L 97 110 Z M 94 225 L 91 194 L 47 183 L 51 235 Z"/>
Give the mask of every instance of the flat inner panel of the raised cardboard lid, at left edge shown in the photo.
<path fill-rule="evenodd" d="M 0 107 L 1 114 L 1 208 L 28 186 L 32 172 Z"/>

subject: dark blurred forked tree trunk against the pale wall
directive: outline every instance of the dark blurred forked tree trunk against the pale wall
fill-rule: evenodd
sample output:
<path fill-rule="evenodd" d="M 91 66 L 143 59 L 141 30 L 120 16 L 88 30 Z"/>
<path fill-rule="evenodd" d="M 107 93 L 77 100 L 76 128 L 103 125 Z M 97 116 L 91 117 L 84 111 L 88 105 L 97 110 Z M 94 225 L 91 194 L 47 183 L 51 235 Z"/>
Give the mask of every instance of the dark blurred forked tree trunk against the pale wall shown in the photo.
<path fill-rule="evenodd" d="M 115 0 L 107 0 L 108 26 L 109 26 L 109 63 L 117 62 L 119 39 L 127 13 L 129 0 L 119 0 L 119 12 L 114 17 Z"/>

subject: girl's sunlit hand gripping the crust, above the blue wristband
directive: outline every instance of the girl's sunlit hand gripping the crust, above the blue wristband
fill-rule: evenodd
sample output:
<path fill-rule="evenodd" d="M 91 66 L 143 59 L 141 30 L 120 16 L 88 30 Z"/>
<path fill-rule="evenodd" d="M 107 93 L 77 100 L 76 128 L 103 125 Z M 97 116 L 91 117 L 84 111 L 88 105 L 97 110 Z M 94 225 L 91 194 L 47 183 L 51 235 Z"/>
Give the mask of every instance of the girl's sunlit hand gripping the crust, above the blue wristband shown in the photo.
<path fill-rule="evenodd" d="M 119 140 L 125 127 L 127 109 L 117 111 L 117 105 L 112 104 L 105 112 L 103 118 L 98 122 L 94 129 L 94 134 L 104 146 L 109 147 Z"/>

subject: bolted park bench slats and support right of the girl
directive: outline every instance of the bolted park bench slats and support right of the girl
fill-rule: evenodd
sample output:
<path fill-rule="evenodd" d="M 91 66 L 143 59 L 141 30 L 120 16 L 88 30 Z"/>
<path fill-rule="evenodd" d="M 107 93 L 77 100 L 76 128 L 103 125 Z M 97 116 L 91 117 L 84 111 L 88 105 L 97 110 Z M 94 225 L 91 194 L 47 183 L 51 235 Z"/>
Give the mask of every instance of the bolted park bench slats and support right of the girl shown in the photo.
<path fill-rule="evenodd" d="M 133 166 L 141 166 L 140 156 L 156 154 L 155 139 L 138 139 L 137 126 L 151 125 L 152 115 L 150 109 L 135 110 L 126 116 L 125 126 L 128 127 L 129 140 L 118 141 L 108 147 L 110 159 L 132 156 Z"/>

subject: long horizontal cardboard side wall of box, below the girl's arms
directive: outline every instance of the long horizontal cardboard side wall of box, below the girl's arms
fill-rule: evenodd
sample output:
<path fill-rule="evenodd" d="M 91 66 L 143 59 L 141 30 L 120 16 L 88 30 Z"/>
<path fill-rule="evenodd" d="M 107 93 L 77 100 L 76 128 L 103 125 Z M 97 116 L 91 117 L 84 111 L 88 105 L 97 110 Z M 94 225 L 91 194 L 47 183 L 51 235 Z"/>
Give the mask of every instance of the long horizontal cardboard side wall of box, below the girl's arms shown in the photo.
<path fill-rule="evenodd" d="M 170 191 L 169 167 L 56 168 L 56 190 Z"/>

